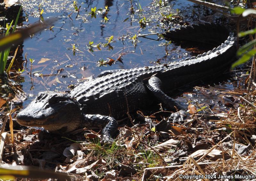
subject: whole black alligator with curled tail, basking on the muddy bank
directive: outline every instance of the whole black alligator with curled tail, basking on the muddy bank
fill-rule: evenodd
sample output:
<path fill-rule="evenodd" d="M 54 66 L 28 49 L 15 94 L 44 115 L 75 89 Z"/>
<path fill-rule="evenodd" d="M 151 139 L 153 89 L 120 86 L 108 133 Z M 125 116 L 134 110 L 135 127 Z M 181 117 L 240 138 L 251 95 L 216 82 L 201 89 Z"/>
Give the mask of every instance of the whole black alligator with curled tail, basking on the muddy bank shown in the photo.
<path fill-rule="evenodd" d="M 69 94 L 39 92 L 34 101 L 17 114 L 17 122 L 63 133 L 79 127 L 102 126 L 102 141 L 111 142 L 118 126 L 116 119 L 123 118 L 127 111 L 145 107 L 153 97 L 169 108 L 176 106 L 180 114 L 173 113 L 171 117 L 182 121 L 184 107 L 165 92 L 203 77 L 214 79 L 230 68 L 236 46 L 234 35 L 228 35 L 226 28 L 210 23 L 165 32 L 164 36 L 170 39 L 223 43 L 212 51 L 179 62 L 104 71 Z"/>

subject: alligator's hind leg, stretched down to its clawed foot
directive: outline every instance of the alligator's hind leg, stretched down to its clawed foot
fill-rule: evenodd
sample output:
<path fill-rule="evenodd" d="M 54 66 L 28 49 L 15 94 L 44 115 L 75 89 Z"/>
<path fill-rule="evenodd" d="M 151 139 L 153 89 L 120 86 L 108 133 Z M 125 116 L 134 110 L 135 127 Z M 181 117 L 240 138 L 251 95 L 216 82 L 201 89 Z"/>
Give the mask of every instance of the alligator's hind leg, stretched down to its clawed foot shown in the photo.
<path fill-rule="evenodd" d="M 170 119 L 172 122 L 182 122 L 185 117 L 187 117 L 187 112 L 184 110 L 185 107 L 180 104 L 179 101 L 174 100 L 167 96 L 162 90 L 162 81 L 154 76 L 148 80 L 148 89 L 153 93 L 153 95 L 164 105 L 170 109 L 174 109 L 174 106 L 177 107 L 180 111 L 177 113 L 172 113 Z"/>

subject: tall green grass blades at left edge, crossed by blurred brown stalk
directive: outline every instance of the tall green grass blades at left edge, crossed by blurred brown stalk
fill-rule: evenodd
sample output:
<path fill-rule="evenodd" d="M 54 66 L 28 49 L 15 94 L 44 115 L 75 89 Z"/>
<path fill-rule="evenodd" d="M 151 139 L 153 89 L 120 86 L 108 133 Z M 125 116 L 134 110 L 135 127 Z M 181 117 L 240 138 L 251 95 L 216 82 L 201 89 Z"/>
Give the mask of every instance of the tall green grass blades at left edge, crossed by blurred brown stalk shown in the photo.
<path fill-rule="evenodd" d="M 15 23 L 14 23 L 14 26 L 13 26 L 13 29 L 12 29 L 12 33 L 15 32 L 15 29 L 16 29 L 16 26 L 17 26 L 17 23 L 18 23 L 18 18 L 20 16 L 20 11 L 21 11 L 21 6 L 20 6 L 20 10 L 17 14 L 17 17 L 16 17 L 16 20 L 15 20 Z M 12 26 L 12 23 L 13 23 L 13 20 L 12 22 L 10 23 L 10 25 L 6 24 L 6 32 L 5 32 L 5 36 L 9 35 L 9 31 L 10 31 L 10 28 Z M 5 69 L 5 66 L 6 66 L 6 63 L 7 63 L 7 59 L 8 59 L 8 56 L 9 56 L 9 52 L 10 52 L 10 47 L 9 48 L 6 48 L 4 51 L 1 51 L 0 52 L 0 75 L 2 75 L 4 73 L 4 69 Z M 10 66 L 12 66 L 10 64 Z M 11 67 L 8 67 L 7 70 L 10 70 Z"/>

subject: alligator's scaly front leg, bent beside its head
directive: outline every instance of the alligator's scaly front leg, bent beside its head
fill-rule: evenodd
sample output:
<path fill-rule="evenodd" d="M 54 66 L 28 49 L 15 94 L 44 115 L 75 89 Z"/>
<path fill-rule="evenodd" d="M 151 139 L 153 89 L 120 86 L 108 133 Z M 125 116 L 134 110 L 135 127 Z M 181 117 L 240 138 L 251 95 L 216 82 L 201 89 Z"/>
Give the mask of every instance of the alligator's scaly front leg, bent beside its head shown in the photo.
<path fill-rule="evenodd" d="M 113 136 L 116 134 L 118 123 L 110 117 L 100 114 L 85 114 L 84 115 L 84 127 L 95 126 L 102 127 L 101 131 L 101 143 L 113 142 Z"/>

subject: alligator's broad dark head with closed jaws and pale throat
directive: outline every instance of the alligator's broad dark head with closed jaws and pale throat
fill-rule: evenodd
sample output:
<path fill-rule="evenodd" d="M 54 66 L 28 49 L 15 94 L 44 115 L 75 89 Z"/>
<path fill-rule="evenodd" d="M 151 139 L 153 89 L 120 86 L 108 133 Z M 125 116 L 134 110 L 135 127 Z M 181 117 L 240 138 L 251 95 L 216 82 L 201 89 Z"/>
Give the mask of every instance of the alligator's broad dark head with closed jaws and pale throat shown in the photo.
<path fill-rule="evenodd" d="M 82 121 L 80 106 L 64 93 L 39 92 L 37 97 L 17 114 L 23 126 L 44 127 L 48 131 L 70 132 Z"/>

